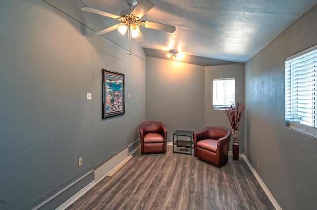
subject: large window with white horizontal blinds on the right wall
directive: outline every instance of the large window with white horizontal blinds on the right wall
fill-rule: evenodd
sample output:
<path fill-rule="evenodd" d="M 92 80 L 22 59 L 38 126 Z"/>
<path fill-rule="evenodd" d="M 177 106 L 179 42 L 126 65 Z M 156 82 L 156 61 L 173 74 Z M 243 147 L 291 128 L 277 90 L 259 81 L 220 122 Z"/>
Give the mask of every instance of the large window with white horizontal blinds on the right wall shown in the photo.
<path fill-rule="evenodd" d="M 286 58 L 285 125 L 317 137 L 317 45 Z"/>

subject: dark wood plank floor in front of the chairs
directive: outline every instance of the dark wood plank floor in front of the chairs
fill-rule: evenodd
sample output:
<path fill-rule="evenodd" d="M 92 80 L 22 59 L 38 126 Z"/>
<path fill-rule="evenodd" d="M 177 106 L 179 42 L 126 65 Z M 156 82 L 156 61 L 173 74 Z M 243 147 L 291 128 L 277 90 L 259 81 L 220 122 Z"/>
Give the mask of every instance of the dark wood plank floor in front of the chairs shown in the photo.
<path fill-rule="evenodd" d="M 67 210 L 275 210 L 243 159 L 222 168 L 172 153 L 133 158 Z"/>

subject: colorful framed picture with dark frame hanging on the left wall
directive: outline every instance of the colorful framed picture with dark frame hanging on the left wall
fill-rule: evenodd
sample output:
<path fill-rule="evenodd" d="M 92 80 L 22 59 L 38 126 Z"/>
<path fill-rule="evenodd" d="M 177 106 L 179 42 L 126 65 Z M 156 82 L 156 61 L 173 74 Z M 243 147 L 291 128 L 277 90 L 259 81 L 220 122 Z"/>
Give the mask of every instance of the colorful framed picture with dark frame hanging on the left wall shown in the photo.
<path fill-rule="evenodd" d="M 103 69 L 103 119 L 124 114 L 124 74 Z"/>

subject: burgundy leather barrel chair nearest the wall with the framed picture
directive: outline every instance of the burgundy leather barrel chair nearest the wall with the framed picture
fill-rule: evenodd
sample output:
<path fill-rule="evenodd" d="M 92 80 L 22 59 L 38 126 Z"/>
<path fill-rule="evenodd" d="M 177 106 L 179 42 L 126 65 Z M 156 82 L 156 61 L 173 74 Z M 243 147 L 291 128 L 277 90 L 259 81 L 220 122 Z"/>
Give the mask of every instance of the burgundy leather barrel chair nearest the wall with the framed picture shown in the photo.
<path fill-rule="evenodd" d="M 148 121 L 140 125 L 141 154 L 165 153 L 167 128 L 158 121 Z"/>

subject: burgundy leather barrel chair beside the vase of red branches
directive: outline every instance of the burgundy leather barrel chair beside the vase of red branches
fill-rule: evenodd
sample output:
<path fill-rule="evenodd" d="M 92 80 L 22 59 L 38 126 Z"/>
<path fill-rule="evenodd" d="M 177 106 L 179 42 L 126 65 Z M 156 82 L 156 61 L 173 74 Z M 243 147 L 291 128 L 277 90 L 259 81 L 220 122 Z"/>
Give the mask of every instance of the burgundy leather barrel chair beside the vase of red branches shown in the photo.
<path fill-rule="evenodd" d="M 231 130 L 227 127 L 208 126 L 194 132 L 194 157 L 216 167 L 228 162 Z"/>

